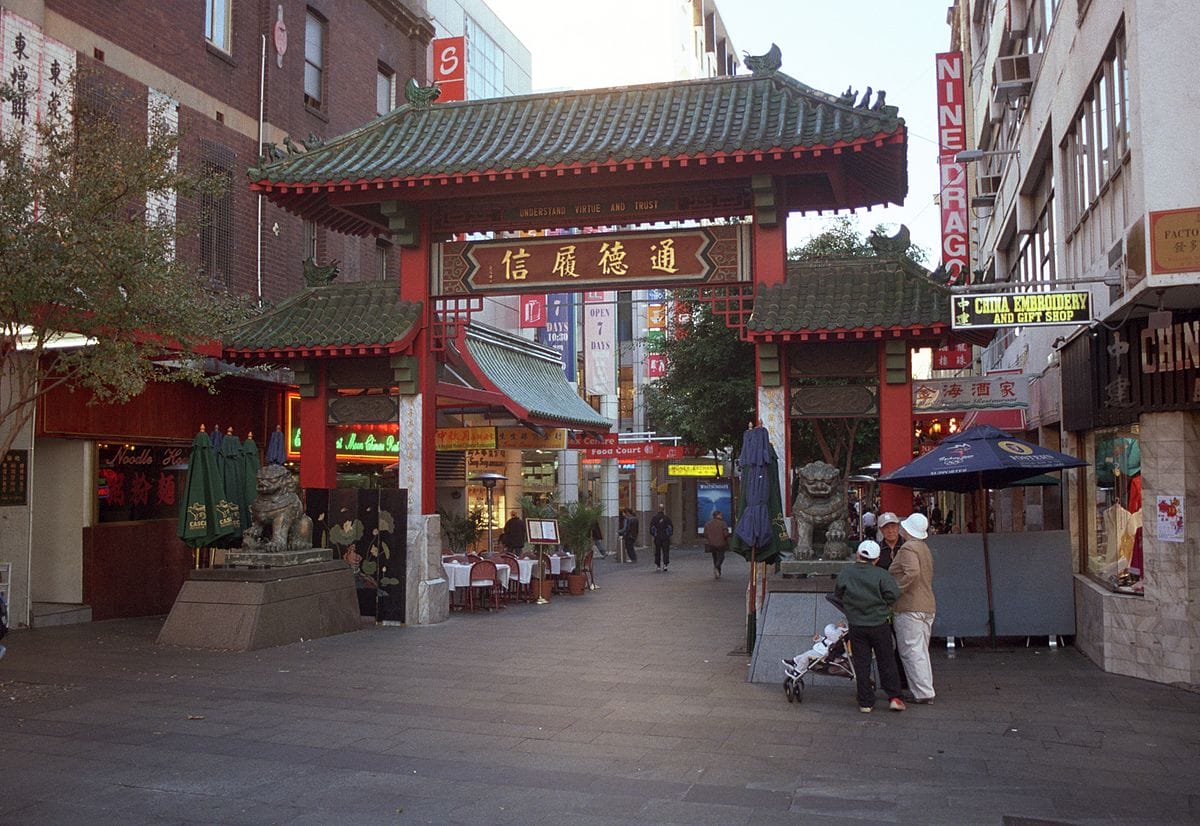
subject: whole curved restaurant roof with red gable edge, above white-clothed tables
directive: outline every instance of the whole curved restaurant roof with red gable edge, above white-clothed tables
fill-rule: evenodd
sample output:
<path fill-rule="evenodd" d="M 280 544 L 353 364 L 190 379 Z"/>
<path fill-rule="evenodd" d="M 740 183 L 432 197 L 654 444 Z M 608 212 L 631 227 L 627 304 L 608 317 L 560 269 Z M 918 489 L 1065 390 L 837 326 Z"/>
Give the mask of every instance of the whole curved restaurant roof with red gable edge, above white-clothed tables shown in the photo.
<path fill-rule="evenodd" d="M 612 427 L 566 381 L 558 351 L 472 323 L 458 330 L 449 348 L 438 408 L 481 412 L 481 407 L 535 426 L 593 432 Z"/>

